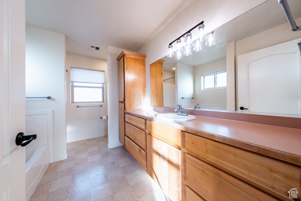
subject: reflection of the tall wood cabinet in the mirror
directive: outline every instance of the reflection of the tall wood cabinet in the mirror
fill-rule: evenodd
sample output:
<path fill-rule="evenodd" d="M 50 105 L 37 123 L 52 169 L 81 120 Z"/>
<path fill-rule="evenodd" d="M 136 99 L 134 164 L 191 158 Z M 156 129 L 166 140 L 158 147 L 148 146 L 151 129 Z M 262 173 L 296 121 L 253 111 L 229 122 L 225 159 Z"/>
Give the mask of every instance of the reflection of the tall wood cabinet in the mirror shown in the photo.
<path fill-rule="evenodd" d="M 151 106 L 163 106 L 163 62 L 160 59 L 150 65 Z"/>

